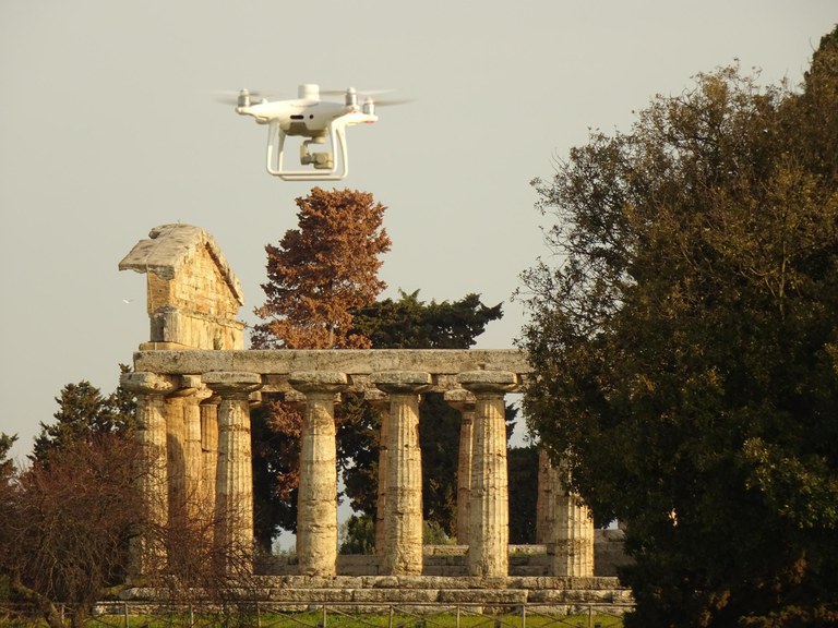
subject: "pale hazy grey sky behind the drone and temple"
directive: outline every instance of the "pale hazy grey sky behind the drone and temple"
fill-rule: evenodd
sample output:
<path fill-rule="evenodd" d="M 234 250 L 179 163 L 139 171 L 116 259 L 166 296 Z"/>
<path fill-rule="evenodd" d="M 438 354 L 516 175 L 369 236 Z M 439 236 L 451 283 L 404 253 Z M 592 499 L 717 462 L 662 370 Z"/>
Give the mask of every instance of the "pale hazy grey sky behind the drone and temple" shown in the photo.
<path fill-rule="evenodd" d="M 63 385 L 116 387 L 148 338 L 144 277 L 117 264 L 157 225 L 212 233 L 254 322 L 264 245 L 312 184 L 270 177 L 265 128 L 217 90 L 412 98 L 350 129 L 349 178 L 321 185 L 388 206 L 385 295 L 503 301 L 479 346 L 508 348 L 547 253 L 529 181 L 735 58 L 799 83 L 836 21 L 838 0 L 0 0 L 0 431 L 20 458 Z"/>

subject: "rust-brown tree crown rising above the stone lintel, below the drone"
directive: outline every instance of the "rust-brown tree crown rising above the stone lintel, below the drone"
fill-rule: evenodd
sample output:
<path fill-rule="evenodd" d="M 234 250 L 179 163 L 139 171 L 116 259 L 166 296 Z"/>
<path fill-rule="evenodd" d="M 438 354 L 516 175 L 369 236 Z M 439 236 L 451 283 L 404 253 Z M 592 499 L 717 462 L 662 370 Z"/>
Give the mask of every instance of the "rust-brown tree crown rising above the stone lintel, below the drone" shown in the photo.
<path fill-rule="evenodd" d="M 256 309 L 265 321 L 254 327 L 258 349 L 369 347 L 352 333 L 351 310 L 375 301 L 386 288 L 378 278 L 379 256 L 390 250 L 382 227 L 384 207 L 372 194 L 314 188 L 296 200 L 299 229 L 279 246 L 268 244 L 267 300 Z"/>

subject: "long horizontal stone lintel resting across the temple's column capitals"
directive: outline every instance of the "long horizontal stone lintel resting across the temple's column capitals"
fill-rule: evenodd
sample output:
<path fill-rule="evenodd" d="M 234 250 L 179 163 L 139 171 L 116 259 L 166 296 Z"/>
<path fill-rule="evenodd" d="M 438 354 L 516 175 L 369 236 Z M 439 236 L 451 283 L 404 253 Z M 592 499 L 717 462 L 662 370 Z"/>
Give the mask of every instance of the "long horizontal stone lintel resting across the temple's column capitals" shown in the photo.
<path fill-rule="evenodd" d="M 287 375 L 296 371 L 336 371 L 369 375 L 384 371 L 420 371 L 432 376 L 467 371 L 531 371 L 517 349 L 325 349 L 325 350 L 153 350 L 134 353 L 137 371 L 164 374 L 243 371 Z"/>

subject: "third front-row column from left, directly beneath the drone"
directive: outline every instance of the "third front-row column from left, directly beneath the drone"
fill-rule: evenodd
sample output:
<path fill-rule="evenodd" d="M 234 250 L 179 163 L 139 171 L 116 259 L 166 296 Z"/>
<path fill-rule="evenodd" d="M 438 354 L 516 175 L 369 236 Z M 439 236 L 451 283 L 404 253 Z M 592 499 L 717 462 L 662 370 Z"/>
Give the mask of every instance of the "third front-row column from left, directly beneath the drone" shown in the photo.
<path fill-rule="evenodd" d="M 337 572 L 337 454 L 335 395 L 346 374 L 291 373 L 288 383 L 306 395 L 300 433 L 300 487 L 297 497 L 297 559 L 301 576 Z"/>

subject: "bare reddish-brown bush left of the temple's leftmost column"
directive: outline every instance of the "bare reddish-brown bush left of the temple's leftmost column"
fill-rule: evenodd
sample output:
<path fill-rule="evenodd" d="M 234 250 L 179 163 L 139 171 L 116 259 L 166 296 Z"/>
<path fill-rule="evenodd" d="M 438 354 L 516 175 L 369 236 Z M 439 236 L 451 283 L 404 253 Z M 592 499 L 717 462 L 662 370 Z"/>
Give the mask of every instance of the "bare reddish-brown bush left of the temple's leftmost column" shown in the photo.
<path fill-rule="evenodd" d="M 132 438 L 99 433 L 69 440 L 15 480 L 4 505 L 0 571 L 16 600 L 52 627 L 84 626 L 93 605 L 124 578 L 128 539 L 142 520 Z"/>

